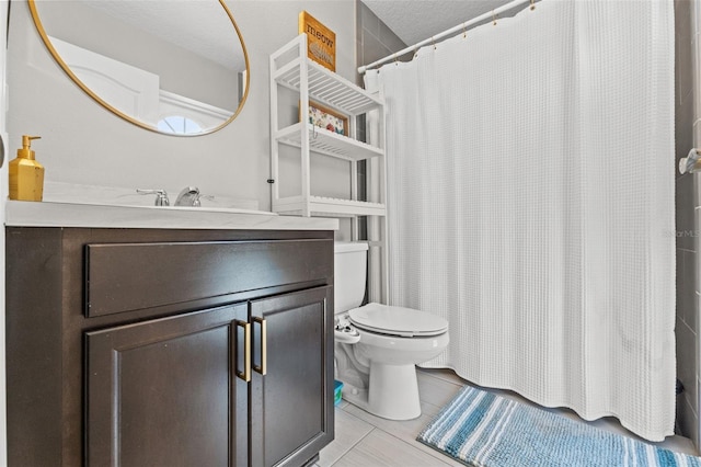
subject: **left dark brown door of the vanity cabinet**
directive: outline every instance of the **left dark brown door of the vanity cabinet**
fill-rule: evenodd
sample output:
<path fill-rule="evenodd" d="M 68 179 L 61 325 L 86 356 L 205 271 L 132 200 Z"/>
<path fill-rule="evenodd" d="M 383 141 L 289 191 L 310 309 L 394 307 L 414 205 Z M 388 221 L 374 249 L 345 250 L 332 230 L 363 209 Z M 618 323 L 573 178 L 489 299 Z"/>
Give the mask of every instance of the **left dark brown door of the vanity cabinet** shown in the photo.
<path fill-rule="evenodd" d="M 241 304 L 88 332 L 87 464 L 245 465 L 246 315 Z"/>

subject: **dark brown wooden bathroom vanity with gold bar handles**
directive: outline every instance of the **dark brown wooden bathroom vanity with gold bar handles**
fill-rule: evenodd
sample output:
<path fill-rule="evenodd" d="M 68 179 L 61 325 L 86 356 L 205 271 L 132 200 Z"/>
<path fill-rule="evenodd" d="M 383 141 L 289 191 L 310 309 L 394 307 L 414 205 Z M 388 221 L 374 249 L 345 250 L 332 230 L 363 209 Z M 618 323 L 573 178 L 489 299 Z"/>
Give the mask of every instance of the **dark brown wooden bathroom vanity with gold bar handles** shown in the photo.
<path fill-rule="evenodd" d="M 55 210 L 8 206 L 10 465 L 302 466 L 333 440 L 336 220 L 13 209 Z"/>

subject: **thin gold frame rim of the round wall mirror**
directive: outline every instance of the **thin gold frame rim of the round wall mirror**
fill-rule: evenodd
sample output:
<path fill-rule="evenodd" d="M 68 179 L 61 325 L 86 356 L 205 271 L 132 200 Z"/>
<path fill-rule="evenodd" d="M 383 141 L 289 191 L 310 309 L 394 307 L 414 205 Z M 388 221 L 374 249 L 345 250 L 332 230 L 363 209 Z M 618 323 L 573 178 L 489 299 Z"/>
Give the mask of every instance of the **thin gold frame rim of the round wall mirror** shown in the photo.
<path fill-rule="evenodd" d="M 218 0 L 218 1 L 219 1 L 219 4 L 221 5 L 221 8 L 223 8 L 223 10 L 227 13 L 227 15 L 229 16 L 229 20 L 231 21 L 231 24 L 233 25 L 233 29 L 237 32 L 237 37 L 239 37 L 239 43 L 241 44 L 241 49 L 243 52 L 243 60 L 245 62 L 245 72 L 248 75 L 246 76 L 246 80 L 245 80 L 245 89 L 243 91 L 243 94 L 242 94 L 242 98 L 241 98 L 241 102 L 239 102 L 239 106 L 237 107 L 235 112 L 233 112 L 233 114 L 227 121 L 225 121 L 221 125 L 218 125 L 218 126 L 216 126 L 214 128 L 208 128 L 208 129 L 206 129 L 206 130 L 204 130 L 202 133 L 195 133 L 195 134 L 177 134 L 177 133 L 161 132 L 157 127 L 153 127 L 153 126 L 148 125 L 148 124 L 146 124 L 143 122 L 140 122 L 140 121 L 136 119 L 135 117 L 125 114 L 124 112 L 115 109 L 114 106 L 112 106 L 111 104 L 105 102 L 95 92 L 93 92 L 88 86 L 85 86 L 76 76 L 76 73 L 73 73 L 73 71 L 70 69 L 68 64 L 66 64 L 66 61 L 64 61 L 61 56 L 58 54 L 58 50 L 56 50 L 56 48 L 51 44 L 51 41 L 48 38 L 48 35 L 46 34 L 46 31 L 44 30 L 44 25 L 42 24 L 42 21 L 39 19 L 39 14 L 38 14 L 38 12 L 36 10 L 35 0 L 27 0 L 27 3 L 30 5 L 30 12 L 32 14 L 32 20 L 34 21 L 34 25 L 36 26 L 36 30 L 38 31 L 39 35 L 42 36 L 42 41 L 44 42 L 44 45 L 46 45 L 46 48 L 48 48 L 48 50 L 50 52 L 51 56 L 58 62 L 58 65 L 64 69 L 66 75 L 68 75 L 69 78 L 76 84 L 78 84 L 78 87 L 80 89 L 82 89 L 88 95 L 90 95 L 95 102 L 97 102 L 100 105 L 102 105 L 103 107 L 105 107 L 110 112 L 114 113 L 115 115 L 124 118 L 125 121 L 130 122 L 134 125 L 139 126 L 139 127 L 145 128 L 145 129 L 148 129 L 150 132 L 158 133 L 160 135 L 168 135 L 168 136 L 194 137 L 194 136 L 210 135 L 210 134 L 212 134 L 215 132 L 218 132 L 219 129 L 223 128 L 225 126 L 229 125 L 241 113 L 241 110 L 243 109 L 243 104 L 245 104 L 245 101 L 246 101 L 246 99 L 249 96 L 249 89 L 250 89 L 250 82 L 251 82 L 251 71 L 250 71 L 251 67 L 250 67 L 250 64 L 249 64 L 249 54 L 248 54 L 246 48 L 245 48 L 245 43 L 243 42 L 243 36 L 241 35 L 241 31 L 239 30 L 239 26 L 237 25 L 237 22 L 233 19 L 233 15 L 231 14 L 231 11 L 229 10 L 227 4 L 225 3 L 225 0 Z"/>

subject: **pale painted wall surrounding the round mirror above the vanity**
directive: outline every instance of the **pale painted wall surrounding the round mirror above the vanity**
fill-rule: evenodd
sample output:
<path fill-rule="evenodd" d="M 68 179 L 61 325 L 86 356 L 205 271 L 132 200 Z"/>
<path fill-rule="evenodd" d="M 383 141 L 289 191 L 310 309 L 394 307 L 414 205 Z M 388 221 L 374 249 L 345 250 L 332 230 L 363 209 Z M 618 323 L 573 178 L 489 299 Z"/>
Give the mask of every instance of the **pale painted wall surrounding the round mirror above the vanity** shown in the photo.
<path fill-rule="evenodd" d="M 353 0 L 227 2 L 250 59 L 249 99 L 223 129 L 199 137 L 151 133 L 94 103 L 54 61 L 25 2 L 13 2 L 8 56 L 10 148 L 23 134 L 33 145 L 46 180 L 119 187 L 162 187 L 255 198 L 269 209 L 268 55 L 297 35 L 301 10 L 336 33 L 337 72 L 355 79 Z"/>

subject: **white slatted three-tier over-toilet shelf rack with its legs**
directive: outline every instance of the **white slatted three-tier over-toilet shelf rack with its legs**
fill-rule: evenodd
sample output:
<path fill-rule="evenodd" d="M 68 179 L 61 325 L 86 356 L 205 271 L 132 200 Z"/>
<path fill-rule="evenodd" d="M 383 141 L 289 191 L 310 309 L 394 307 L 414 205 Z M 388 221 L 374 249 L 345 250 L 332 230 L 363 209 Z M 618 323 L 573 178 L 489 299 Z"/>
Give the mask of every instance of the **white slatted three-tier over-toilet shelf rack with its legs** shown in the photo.
<path fill-rule="evenodd" d="M 387 205 L 384 157 L 384 101 L 357 87 L 307 57 L 307 35 L 300 34 L 271 55 L 271 172 L 272 207 L 275 213 L 296 216 L 350 218 L 352 239 L 358 240 L 358 217 L 367 216 L 369 251 L 368 293 L 371 301 L 387 299 Z M 297 94 L 297 121 L 280 125 L 280 104 L 294 103 L 280 99 L 280 90 Z M 347 116 L 347 135 L 340 135 L 312 125 L 307 118 L 310 100 Z M 297 100 L 295 100 L 297 101 Z M 357 116 L 377 112 L 377 144 L 358 140 Z M 370 118 L 368 118 L 370 119 Z M 301 121 L 301 122 L 300 122 Z M 298 174 L 280 173 L 283 146 L 299 149 Z M 311 193 L 311 153 L 349 161 L 348 198 L 318 196 Z M 371 201 L 360 201 L 357 194 L 357 163 L 367 161 L 367 186 Z M 298 176 L 301 193 L 280 196 L 280 183 Z"/>

